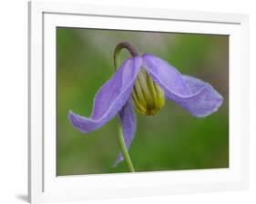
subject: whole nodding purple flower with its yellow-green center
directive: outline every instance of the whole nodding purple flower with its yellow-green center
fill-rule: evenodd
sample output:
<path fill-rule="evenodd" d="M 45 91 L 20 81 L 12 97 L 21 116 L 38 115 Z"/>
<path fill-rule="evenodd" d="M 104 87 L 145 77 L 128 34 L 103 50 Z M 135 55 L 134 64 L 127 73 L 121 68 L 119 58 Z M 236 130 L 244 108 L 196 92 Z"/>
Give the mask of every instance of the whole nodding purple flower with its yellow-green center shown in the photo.
<path fill-rule="evenodd" d="M 131 44 L 122 45 L 132 57 L 98 90 L 91 116 L 68 113 L 69 121 L 78 131 L 96 131 L 118 115 L 128 149 L 137 124 L 133 106 L 141 114 L 155 115 L 169 100 L 196 117 L 208 116 L 220 107 L 223 99 L 209 83 L 179 73 L 153 54 L 138 55 Z M 115 164 L 123 159 L 119 153 Z"/>

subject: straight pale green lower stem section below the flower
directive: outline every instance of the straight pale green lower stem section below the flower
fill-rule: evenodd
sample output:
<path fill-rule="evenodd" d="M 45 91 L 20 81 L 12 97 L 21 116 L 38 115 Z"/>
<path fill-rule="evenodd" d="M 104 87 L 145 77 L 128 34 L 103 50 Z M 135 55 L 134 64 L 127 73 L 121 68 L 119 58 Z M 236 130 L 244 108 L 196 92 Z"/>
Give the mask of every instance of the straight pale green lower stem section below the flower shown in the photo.
<path fill-rule="evenodd" d="M 124 160 L 126 161 L 128 171 L 129 172 L 135 172 L 133 164 L 132 164 L 132 162 L 130 160 L 130 157 L 128 155 L 128 149 L 127 149 L 126 144 L 125 144 L 122 127 L 121 127 L 120 124 L 118 124 L 118 143 L 119 143 L 120 149 L 122 151 Z"/>

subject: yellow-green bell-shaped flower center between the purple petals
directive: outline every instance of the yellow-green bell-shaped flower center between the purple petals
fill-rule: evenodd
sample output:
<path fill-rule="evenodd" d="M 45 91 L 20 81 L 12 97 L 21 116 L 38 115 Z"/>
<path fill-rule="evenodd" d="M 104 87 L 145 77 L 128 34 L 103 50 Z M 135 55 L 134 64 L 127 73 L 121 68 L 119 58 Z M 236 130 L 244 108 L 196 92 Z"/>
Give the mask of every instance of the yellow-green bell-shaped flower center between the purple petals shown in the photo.
<path fill-rule="evenodd" d="M 163 90 L 154 83 L 144 68 L 138 73 L 132 99 L 136 110 L 143 115 L 155 115 L 165 104 Z"/>

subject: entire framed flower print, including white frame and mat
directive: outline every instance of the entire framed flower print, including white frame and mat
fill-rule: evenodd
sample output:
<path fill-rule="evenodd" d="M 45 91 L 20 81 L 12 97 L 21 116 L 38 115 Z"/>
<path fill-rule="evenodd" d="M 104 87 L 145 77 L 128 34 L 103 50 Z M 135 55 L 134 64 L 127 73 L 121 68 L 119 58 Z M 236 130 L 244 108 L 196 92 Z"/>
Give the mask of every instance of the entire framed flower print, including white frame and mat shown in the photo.
<path fill-rule="evenodd" d="M 29 3 L 31 203 L 248 188 L 248 16 Z"/>

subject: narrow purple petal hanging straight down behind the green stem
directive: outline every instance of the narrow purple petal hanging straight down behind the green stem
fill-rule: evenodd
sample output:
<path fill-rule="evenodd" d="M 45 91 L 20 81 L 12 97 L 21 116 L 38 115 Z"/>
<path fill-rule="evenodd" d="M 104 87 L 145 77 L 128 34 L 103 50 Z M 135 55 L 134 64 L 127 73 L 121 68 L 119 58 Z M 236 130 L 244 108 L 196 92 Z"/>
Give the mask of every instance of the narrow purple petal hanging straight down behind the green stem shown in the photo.
<path fill-rule="evenodd" d="M 123 136 L 128 150 L 136 131 L 136 115 L 130 101 L 128 101 L 119 112 L 119 121 L 121 122 Z M 117 166 L 118 162 L 122 160 L 124 160 L 124 158 L 120 152 L 114 166 Z"/>

